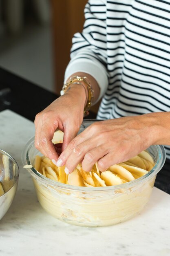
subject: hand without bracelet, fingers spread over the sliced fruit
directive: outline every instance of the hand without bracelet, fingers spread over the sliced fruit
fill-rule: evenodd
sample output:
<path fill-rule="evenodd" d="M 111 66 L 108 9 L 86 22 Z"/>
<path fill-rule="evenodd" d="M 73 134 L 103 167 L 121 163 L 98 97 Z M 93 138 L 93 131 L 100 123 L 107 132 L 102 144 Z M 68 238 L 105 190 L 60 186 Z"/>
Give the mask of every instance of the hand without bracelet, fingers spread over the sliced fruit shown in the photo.
<path fill-rule="evenodd" d="M 71 173 L 82 162 L 91 171 L 98 161 L 100 171 L 124 162 L 154 144 L 152 114 L 95 122 L 77 135 L 61 153 L 62 166 Z"/>

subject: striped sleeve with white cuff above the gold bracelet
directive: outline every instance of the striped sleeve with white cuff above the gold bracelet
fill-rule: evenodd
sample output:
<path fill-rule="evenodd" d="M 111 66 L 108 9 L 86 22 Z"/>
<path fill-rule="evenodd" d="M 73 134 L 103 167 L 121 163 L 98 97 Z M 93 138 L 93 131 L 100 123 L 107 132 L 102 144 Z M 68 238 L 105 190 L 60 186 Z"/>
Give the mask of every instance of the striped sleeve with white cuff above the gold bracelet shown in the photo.
<path fill-rule="evenodd" d="M 106 54 L 106 0 L 89 0 L 84 9 L 82 33 L 72 40 L 71 61 L 65 72 L 65 81 L 75 72 L 91 74 L 100 87 L 99 99 L 108 87 Z"/>

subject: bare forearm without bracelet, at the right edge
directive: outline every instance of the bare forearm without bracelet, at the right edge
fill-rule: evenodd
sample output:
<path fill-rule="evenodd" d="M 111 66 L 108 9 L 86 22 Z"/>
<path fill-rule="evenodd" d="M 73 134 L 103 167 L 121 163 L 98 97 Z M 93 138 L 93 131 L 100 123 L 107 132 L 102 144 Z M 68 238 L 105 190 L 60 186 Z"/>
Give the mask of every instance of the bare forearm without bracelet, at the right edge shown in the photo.
<path fill-rule="evenodd" d="M 170 145 L 170 112 L 149 113 L 141 115 L 140 119 L 148 125 L 152 145 Z"/>

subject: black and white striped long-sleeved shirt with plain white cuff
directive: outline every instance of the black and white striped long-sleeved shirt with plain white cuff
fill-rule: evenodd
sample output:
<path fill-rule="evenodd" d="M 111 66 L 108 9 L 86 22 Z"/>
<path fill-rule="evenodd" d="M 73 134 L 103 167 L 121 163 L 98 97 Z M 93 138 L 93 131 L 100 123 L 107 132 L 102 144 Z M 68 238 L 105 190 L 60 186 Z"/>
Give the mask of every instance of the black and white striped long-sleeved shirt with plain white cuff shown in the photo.
<path fill-rule="evenodd" d="M 170 111 L 170 0 L 89 0 L 84 13 L 65 79 L 96 79 L 97 118 Z"/>

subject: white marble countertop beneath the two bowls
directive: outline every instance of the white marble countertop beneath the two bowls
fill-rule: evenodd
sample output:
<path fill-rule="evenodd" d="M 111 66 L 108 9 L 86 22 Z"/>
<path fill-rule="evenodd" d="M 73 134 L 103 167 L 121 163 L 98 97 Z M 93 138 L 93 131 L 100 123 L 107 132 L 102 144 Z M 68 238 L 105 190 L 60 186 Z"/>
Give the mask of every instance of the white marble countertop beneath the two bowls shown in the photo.
<path fill-rule="evenodd" d="M 21 152 L 34 135 L 33 122 L 0 112 L 0 148 L 20 167 L 16 196 L 0 220 L 0 256 L 169 256 L 170 195 L 154 187 L 140 214 L 111 227 L 85 228 L 60 222 L 40 206 Z"/>

